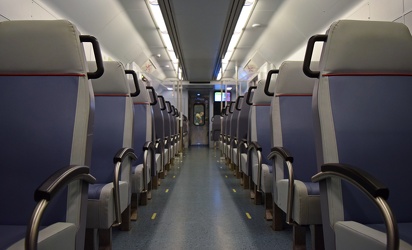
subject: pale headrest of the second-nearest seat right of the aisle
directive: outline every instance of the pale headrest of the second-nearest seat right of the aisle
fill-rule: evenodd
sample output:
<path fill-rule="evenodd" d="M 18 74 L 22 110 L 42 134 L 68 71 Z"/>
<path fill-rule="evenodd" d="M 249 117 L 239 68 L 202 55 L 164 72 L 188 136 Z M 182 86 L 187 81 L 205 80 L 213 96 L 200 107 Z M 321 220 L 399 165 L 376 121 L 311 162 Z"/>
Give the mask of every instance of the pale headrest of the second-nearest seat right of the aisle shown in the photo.
<path fill-rule="evenodd" d="M 314 78 L 303 73 L 303 62 L 285 61 L 280 65 L 276 78 L 275 95 L 281 94 L 312 94 Z M 312 62 L 311 69 L 318 70 L 319 62 Z"/>

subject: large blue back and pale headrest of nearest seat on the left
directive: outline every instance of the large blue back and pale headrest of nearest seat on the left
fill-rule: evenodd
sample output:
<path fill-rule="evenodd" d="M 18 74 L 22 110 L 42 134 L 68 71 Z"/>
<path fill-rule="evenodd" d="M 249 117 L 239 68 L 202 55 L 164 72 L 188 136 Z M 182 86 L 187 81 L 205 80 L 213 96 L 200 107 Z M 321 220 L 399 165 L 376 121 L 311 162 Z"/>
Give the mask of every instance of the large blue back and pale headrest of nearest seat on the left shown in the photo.
<path fill-rule="evenodd" d="M 0 22 L 0 225 L 27 225 L 42 182 L 90 164 L 94 97 L 79 36 L 64 20 Z M 41 226 L 73 223 L 76 241 L 63 244 L 82 249 L 86 202 L 87 186 L 74 181 L 53 198 Z M 2 233 L 0 248 L 22 233 L 8 243 Z"/>

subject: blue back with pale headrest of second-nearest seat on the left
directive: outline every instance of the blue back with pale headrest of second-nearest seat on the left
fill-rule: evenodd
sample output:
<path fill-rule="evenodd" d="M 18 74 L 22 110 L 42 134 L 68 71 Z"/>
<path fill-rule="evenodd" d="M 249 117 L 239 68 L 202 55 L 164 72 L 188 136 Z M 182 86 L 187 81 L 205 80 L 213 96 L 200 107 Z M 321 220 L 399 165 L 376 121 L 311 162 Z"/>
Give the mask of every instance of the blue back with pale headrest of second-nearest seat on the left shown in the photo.
<path fill-rule="evenodd" d="M 120 149 L 131 148 L 133 139 L 133 101 L 125 69 L 117 61 L 106 61 L 104 67 L 103 76 L 92 80 L 96 110 L 91 172 L 101 184 L 113 182 L 113 157 Z M 130 160 L 122 164 L 121 180 L 127 183 L 130 165 Z"/>

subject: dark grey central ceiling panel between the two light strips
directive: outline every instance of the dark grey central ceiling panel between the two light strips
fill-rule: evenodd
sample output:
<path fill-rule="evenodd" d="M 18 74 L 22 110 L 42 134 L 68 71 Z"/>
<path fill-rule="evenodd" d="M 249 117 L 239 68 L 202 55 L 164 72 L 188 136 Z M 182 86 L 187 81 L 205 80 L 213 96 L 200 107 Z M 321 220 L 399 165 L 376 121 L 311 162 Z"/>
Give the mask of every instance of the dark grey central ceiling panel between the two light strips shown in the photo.
<path fill-rule="evenodd" d="M 213 80 L 244 0 L 159 0 L 185 80 Z"/>

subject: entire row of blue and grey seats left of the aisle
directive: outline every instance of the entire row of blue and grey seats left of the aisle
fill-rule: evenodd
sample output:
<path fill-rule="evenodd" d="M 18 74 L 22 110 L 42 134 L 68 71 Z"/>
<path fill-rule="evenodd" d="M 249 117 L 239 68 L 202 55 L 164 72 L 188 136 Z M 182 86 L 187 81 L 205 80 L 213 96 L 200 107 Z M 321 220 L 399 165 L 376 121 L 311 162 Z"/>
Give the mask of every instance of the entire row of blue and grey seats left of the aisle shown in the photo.
<path fill-rule="evenodd" d="M 111 248 L 181 148 L 179 111 L 68 21 L 0 34 L 0 248 Z"/>

